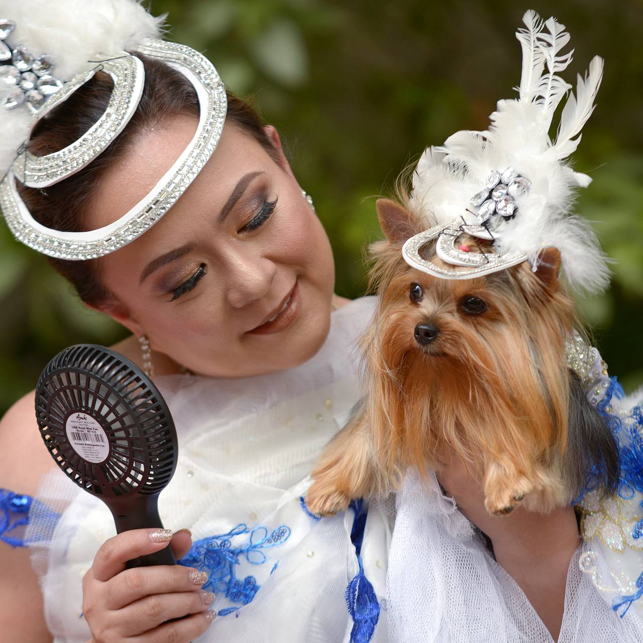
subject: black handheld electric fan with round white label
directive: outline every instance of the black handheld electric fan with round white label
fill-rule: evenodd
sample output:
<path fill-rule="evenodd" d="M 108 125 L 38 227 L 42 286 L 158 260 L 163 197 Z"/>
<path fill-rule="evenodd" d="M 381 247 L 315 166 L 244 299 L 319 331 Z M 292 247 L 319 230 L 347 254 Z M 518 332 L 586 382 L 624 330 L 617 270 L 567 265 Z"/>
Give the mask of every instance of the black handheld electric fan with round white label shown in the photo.
<path fill-rule="evenodd" d="M 71 346 L 42 371 L 35 409 L 51 457 L 109 507 L 116 532 L 163 527 L 158 496 L 176 468 L 176 430 L 140 368 L 102 346 Z M 170 547 L 127 563 L 174 564 Z"/>

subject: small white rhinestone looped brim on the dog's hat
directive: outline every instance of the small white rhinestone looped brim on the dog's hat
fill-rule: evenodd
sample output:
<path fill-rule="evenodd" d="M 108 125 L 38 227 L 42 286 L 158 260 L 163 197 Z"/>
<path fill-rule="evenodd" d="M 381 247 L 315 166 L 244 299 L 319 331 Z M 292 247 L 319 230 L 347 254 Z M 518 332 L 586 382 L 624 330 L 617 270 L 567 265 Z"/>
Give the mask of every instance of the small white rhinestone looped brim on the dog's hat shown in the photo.
<path fill-rule="evenodd" d="M 489 230 L 484 226 L 462 225 L 462 219 L 454 219 L 446 227 L 435 226 L 407 239 L 402 247 L 404 261 L 423 273 L 437 276 L 441 279 L 469 279 L 475 276 L 496 273 L 505 268 L 516 266 L 527 259 L 527 255 L 518 252 L 505 254 L 485 253 L 483 255 L 456 249 L 455 241 L 463 232 L 480 239 L 489 239 Z M 458 266 L 458 269 L 436 266 L 433 262 L 420 256 L 420 248 L 436 237 L 438 237 L 435 246 L 437 255 L 444 262 Z"/>

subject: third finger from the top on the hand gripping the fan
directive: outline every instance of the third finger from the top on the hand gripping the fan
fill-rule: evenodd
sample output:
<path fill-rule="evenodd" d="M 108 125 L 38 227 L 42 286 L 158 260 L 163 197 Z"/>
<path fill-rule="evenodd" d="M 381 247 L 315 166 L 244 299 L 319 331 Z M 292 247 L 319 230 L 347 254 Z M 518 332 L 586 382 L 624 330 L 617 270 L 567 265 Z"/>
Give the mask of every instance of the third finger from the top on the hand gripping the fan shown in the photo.
<path fill-rule="evenodd" d="M 145 596 L 118 610 L 121 632 L 125 636 L 147 632 L 168 620 L 206 611 L 213 601 L 214 594 L 203 590 Z"/>

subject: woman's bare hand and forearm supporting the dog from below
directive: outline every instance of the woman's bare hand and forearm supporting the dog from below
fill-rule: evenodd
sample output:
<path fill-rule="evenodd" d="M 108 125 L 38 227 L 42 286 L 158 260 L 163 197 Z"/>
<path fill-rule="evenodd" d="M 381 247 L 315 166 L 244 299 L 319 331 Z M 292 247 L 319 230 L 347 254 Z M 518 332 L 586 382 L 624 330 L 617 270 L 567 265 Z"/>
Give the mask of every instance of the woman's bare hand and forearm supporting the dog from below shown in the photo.
<path fill-rule="evenodd" d="M 436 475 L 458 509 L 491 540 L 496 562 L 518 583 L 557 640 L 569 563 L 581 541 L 574 509 L 537 514 L 519 505 L 508 516 L 491 516 L 478 476 L 467 471 L 462 460 L 444 463 Z"/>

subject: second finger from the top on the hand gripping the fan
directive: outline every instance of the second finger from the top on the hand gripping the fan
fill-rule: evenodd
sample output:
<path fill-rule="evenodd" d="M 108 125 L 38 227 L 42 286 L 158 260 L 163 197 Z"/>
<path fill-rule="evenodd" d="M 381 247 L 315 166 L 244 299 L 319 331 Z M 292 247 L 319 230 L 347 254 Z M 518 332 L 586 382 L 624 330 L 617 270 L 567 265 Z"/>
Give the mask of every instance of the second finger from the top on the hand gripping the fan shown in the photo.
<path fill-rule="evenodd" d="M 154 594 L 194 592 L 208 581 L 208 574 L 183 565 L 152 565 L 126 569 L 105 583 L 105 607 L 119 610 Z"/>

